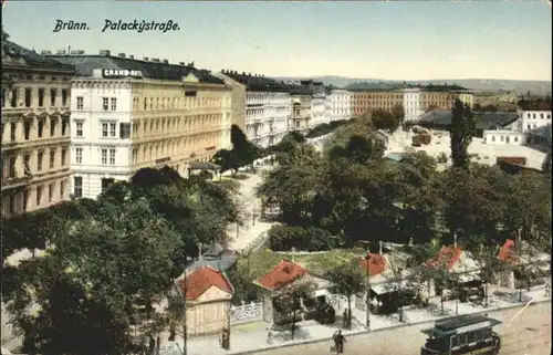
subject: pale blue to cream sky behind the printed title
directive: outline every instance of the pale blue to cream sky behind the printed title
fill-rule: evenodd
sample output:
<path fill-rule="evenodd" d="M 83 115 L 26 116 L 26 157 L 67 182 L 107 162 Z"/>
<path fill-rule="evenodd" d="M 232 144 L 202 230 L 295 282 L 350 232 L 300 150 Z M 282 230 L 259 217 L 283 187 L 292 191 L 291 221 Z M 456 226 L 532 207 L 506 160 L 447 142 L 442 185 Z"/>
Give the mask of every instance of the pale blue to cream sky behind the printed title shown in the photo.
<path fill-rule="evenodd" d="M 393 2 L 18 1 L 4 31 L 21 45 L 274 76 L 388 80 L 551 80 L 551 8 L 544 0 Z M 53 33 L 55 20 L 88 31 Z M 180 31 L 106 31 L 105 20 L 178 22 Z"/>

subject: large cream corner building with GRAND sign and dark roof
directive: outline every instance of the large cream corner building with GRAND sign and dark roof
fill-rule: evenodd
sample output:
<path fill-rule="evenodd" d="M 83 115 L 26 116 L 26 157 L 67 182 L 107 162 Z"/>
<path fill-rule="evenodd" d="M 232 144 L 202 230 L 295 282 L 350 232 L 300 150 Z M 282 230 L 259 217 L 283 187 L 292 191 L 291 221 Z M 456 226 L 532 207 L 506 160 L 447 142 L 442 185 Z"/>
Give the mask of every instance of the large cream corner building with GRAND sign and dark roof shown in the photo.
<path fill-rule="evenodd" d="M 48 54 L 48 53 L 45 53 Z M 181 176 L 230 146 L 231 90 L 194 63 L 119 53 L 48 54 L 76 67 L 71 93 L 71 190 L 96 198 L 140 168 Z"/>

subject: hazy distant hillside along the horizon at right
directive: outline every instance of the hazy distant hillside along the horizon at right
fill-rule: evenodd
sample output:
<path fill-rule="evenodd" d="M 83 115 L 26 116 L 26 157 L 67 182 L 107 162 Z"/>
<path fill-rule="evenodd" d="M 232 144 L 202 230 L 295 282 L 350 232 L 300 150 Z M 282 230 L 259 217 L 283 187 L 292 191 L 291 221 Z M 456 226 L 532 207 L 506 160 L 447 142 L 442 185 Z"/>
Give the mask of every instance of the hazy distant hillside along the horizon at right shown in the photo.
<path fill-rule="evenodd" d="M 351 84 L 356 83 L 404 83 L 403 81 L 390 81 L 390 80 L 379 80 L 379 79 L 352 79 L 343 76 L 315 76 L 315 77 L 275 77 L 283 81 L 298 81 L 313 79 L 321 81 L 326 85 L 333 85 L 337 87 L 346 87 Z M 524 81 L 524 80 L 493 80 L 493 79 L 463 79 L 463 80 L 440 80 L 440 81 L 406 81 L 407 84 L 448 84 L 448 85 L 460 85 L 467 88 L 472 88 L 474 92 L 486 92 L 486 91 L 512 91 L 517 94 L 526 94 L 529 91 L 531 94 L 535 95 L 546 95 L 551 94 L 552 86 L 551 82 L 545 81 Z"/>

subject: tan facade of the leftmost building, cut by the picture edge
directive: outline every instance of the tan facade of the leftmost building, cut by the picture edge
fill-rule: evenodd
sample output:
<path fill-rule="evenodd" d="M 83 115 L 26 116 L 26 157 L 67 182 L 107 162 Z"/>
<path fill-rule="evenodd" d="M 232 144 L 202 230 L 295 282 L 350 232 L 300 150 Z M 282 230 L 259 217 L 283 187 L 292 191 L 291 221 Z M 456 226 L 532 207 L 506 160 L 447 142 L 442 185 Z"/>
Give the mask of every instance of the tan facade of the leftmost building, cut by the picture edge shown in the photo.
<path fill-rule="evenodd" d="M 2 32 L 2 218 L 69 199 L 74 71 Z"/>

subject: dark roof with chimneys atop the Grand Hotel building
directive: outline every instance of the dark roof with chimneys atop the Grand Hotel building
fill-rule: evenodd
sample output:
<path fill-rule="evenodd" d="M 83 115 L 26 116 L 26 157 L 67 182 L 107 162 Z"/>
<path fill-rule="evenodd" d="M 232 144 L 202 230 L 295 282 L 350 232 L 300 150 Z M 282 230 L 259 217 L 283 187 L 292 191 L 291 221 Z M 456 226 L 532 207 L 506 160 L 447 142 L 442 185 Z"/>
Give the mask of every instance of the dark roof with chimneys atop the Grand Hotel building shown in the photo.
<path fill-rule="evenodd" d="M 49 59 L 64 64 L 74 65 L 77 76 L 92 76 L 95 69 L 140 71 L 145 79 L 181 81 L 184 76 L 194 74 L 200 83 L 223 84 L 225 82 L 210 71 L 197 69 L 194 63 L 169 64 L 167 61 L 134 59 L 124 53 L 114 56 L 108 51 L 102 54 L 45 54 Z"/>

